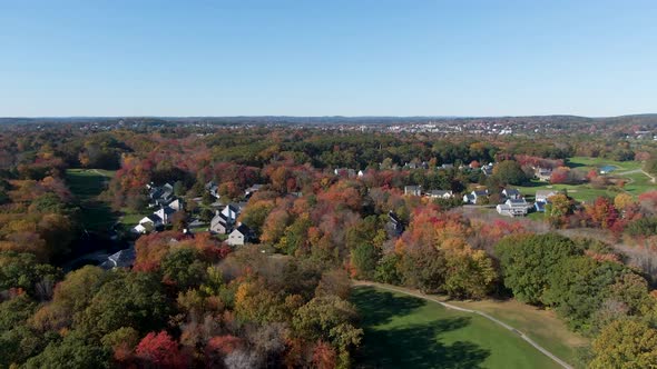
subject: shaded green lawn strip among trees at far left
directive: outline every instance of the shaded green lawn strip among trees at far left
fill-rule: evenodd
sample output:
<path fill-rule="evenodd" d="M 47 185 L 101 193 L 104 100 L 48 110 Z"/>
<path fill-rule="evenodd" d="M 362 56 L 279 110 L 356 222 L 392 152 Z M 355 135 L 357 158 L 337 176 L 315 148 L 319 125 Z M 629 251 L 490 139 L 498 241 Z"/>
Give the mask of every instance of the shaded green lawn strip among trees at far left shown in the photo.
<path fill-rule="evenodd" d="M 98 197 L 107 188 L 112 171 L 100 169 L 68 169 L 66 180 L 71 192 L 80 201 L 82 223 L 87 230 L 107 231 L 116 216 L 106 201 Z"/>

